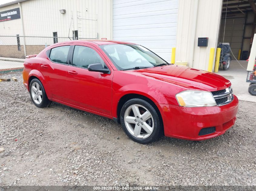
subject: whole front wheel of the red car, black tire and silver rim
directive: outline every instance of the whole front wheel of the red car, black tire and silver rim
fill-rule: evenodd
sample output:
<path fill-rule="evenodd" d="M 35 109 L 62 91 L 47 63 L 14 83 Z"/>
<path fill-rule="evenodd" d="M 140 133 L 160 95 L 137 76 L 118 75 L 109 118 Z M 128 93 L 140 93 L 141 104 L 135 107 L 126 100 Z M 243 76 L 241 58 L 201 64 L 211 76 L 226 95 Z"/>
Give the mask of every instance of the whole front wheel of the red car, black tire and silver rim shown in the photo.
<path fill-rule="evenodd" d="M 125 102 L 120 112 L 120 121 L 126 135 L 141 144 L 154 142 L 163 135 L 160 113 L 144 99 L 134 98 Z"/>

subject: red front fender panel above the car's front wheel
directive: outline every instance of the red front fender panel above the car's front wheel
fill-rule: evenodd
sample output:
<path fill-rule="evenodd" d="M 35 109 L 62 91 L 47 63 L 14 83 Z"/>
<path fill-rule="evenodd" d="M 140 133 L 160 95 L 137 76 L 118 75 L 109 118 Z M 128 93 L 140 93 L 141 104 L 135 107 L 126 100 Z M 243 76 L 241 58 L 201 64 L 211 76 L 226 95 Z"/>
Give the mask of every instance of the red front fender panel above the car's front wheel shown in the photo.
<path fill-rule="evenodd" d="M 178 105 L 175 93 L 183 90 L 183 88 L 177 88 L 176 85 L 155 78 L 115 71 L 112 84 L 112 115 L 117 116 L 118 102 L 127 94 L 139 94 L 154 103 Z"/>

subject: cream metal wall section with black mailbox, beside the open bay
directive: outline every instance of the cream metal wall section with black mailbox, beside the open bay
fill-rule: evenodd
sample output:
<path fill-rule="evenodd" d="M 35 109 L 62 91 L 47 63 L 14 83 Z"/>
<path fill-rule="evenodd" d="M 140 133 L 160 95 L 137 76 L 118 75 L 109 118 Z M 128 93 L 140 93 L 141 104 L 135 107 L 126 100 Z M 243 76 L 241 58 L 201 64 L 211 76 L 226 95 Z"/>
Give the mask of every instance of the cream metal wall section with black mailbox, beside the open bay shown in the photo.
<path fill-rule="evenodd" d="M 193 68 L 208 69 L 210 49 L 216 51 L 218 42 L 221 7 L 222 0 L 179 1 L 176 61 L 188 61 Z M 208 37 L 208 46 L 198 47 L 198 37 Z"/>

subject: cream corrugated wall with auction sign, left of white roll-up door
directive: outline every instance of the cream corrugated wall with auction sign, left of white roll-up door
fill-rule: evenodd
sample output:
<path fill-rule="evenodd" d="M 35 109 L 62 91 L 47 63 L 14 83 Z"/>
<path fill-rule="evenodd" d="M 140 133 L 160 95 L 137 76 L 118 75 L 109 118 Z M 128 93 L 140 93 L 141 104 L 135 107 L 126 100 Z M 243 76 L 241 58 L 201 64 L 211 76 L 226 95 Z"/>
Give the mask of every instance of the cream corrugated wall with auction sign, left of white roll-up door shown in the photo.
<path fill-rule="evenodd" d="M 98 32 L 99 39 L 112 39 L 112 0 L 29 0 L 21 5 L 25 36 L 52 37 L 53 32 L 58 32 L 58 37 L 68 37 L 68 33 L 72 37 L 74 29 L 81 31 L 80 38 L 95 38 Z M 0 12 L 18 7 L 18 4 L 10 5 L 0 8 Z M 66 13 L 61 14 L 60 9 L 65 9 Z M 77 11 L 82 19 L 98 21 L 78 21 Z M 0 34 L 22 35 L 21 19 L 0 22 Z"/>

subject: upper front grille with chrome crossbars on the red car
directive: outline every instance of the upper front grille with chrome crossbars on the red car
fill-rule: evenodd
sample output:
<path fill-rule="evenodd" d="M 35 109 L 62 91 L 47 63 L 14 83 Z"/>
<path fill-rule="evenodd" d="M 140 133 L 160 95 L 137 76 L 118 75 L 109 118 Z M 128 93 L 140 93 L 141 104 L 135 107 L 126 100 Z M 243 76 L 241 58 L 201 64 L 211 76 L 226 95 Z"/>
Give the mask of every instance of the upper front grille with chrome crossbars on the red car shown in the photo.
<path fill-rule="evenodd" d="M 226 105 L 234 99 L 231 86 L 224 90 L 212 91 L 211 93 L 216 101 L 217 106 Z"/>

